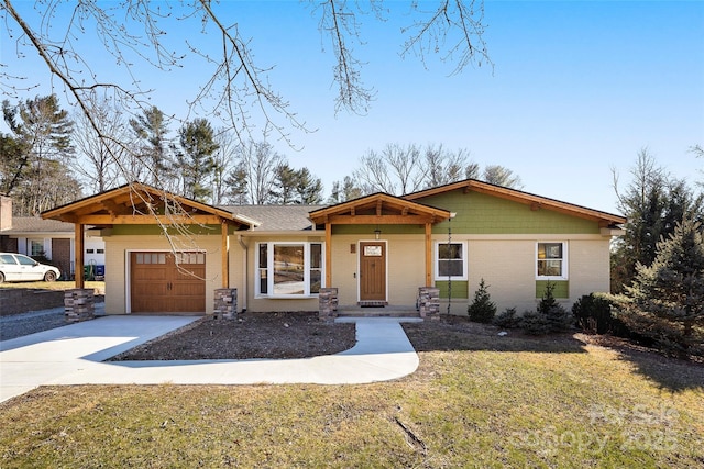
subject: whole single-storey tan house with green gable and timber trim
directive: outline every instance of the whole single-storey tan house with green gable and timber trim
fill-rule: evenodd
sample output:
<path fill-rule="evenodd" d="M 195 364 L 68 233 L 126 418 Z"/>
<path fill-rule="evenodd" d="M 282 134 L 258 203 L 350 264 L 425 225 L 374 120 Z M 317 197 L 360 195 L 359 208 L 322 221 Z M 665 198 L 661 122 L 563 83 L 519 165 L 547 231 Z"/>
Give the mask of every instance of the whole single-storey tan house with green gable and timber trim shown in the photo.
<path fill-rule="evenodd" d="M 535 309 L 548 282 L 571 305 L 608 291 L 626 222 L 473 179 L 331 206 L 216 208 L 135 183 L 43 216 L 100 228 L 108 314 L 211 313 L 219 288 L 240 311 L 317 310 L 322 287 L 341 308 L 409 309 L 438 287 L 464 314 L 482 279 L 499 311 Z"/>

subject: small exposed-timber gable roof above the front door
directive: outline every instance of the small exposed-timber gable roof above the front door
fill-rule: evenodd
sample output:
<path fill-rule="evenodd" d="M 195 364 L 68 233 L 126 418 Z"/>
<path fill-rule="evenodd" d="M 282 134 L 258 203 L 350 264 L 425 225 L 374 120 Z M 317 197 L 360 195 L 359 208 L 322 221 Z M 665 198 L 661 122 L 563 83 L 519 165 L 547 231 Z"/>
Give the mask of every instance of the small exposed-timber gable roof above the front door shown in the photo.
<path fill-rule="evenodd" d="M 309 213 L 315 224 L 427 224 L 450 219 L 443 209 L 386 193 L 374 193 Z"/>

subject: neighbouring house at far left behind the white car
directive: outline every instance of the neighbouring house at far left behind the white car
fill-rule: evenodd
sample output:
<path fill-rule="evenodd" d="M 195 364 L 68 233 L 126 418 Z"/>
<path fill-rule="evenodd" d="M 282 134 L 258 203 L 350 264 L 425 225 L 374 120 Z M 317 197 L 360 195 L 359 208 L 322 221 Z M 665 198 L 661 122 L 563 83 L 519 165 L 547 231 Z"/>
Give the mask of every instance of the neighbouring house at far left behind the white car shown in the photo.
<path fill-rule="evenodd" d="M 0 252 L 44 256 L 58 267 L 62 278 L 75 275 L 75 227 L 73 223 L 44 220 L 38 216 L 12 216 L 12 200 L 0 197 Z M 89 268 L 106 264 L 105 242 L 86 234 L 85 261 Z M 103 272 L 105 273 L 105 272 Z"/>

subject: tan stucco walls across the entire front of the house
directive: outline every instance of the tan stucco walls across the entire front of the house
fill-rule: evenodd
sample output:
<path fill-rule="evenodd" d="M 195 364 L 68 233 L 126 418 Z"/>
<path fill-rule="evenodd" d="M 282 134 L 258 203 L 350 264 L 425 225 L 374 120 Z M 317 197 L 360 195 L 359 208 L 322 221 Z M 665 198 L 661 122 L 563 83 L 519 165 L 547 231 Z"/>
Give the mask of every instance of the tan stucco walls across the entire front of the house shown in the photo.
<path fill-rule="evenodd" d="M 568 266 L 570 298 L 563 300 L 565 308 L 583 294 L 593 291 L 608 291 L 609 288 L 609 239 L 600 235 L 460 235 L 453 241 L 466 241 L 469 256 L 469 299 L 452 300 L 452 313 L 466 314 L 466 305 L 483 278 L 490 286 L 492 300 L 498 312 L 516 308 L 519 313 L 535 309 L 535 253 L 539 241 L 563 241 L 569 243 Z M 255 298 L 255 253 L 257 242 L 324 242 L 324 236 L 274 237 L 243 236 L 241 246 L 238 234 L 230 236 L 230 287 L 239 291 L 239 308 L 252 312 L 270 311 L 316 311 L 317 297 L 306 299 Z M 332 284 L 339 289 L 342 306 L 356 305 L 359 242 L 373 241 L 370 236 L 337 235 L 332 239 Z M 397 306 L 415 306 L 418 287 L 425 283 L 425 242 L 418 235 L 382 235 L 387 243 L 388 302 Z M 447 241 L 444 236 L 433 236 L 435 242 Z M 354 245 L 354 253 L 351 250 Z M 206 250 L 206 312 L 212 313 L 213 291 L 221 288 L 220 236 L 197 236 L 184 249 Z M 110 236 L 106 237 L 106 312 L 124 314 L 128 311 L 129 292 L 127 286 L 128 250 L 170 250 L 163 236 Z M 435 253 L 435 250 L 433 250 Z M 435 266 L 433 266 L 435 267 Z M 435 275 L 433 275 L 435 279 Z M 246 294 L 245 294 L 246 292 Z M 441 311 L 447 311 L 442 303 Z"/>

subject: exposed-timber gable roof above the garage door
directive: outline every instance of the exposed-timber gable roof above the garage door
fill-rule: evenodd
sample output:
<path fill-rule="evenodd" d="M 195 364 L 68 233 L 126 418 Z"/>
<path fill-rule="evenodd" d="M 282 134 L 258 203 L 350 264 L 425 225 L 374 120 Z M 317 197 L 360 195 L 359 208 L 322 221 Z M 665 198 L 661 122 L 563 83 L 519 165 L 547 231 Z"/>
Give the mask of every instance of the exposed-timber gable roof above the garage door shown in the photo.
<path fill-rule="evenodd" d="M 42 217 L 96 226 L 221 223 L 246 227 L 257 225 L 253 220 L 226 210 L 136 182 L 50 210 L 42 213 Z"/>

